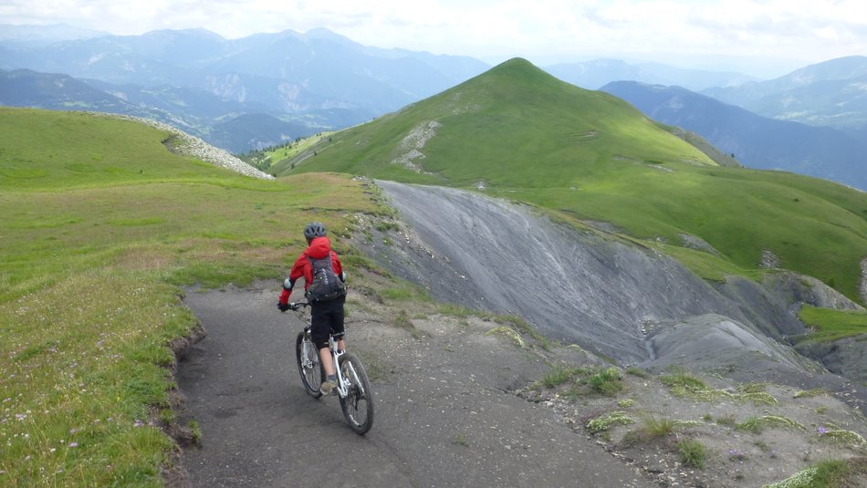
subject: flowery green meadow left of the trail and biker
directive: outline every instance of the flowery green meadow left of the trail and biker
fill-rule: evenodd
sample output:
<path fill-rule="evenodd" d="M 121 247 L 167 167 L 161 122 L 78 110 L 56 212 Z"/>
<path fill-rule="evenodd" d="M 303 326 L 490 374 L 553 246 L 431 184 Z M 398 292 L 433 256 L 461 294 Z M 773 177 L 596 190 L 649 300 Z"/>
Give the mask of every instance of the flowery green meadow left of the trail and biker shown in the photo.
<path fill-rule="evenodd" d="M 0 108 L 0 485 L 160 485 L 167 344 L 195 325 L 177 285 L 277 283 L 304 223 L 346 252 L 350 214 L 376 211 L 347 177 L 254 180 L 165 137 Z"/>

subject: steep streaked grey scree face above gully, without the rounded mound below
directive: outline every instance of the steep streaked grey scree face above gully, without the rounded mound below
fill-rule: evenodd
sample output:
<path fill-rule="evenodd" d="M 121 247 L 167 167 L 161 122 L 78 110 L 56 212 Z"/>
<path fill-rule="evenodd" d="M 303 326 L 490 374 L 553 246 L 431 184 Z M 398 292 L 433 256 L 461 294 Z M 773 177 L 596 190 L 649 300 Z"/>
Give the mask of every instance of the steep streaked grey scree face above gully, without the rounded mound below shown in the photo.
<path fill-rule="evenodd" d="M 653 249 L 477 193 L 378 184 L 412 231 L 368 251 L 438 300 L 517 314 L 549 337 L 622 363 L 651 358 L 651 324 L 708 313 L 755 318 Z M 776 327 L 786 328 L 765 328 Z"/>

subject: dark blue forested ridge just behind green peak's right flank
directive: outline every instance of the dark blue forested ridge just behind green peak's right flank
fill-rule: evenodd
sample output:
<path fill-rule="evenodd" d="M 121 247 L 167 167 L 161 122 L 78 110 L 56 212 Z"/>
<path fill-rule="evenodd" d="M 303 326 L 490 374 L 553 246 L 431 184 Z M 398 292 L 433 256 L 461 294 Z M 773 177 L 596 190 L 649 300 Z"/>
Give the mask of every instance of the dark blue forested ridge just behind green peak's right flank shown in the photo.
<path fill-rule="evenodd" d="M 750 168 L 785 170 L 867 191 L 867 140 L 769 119 L 685 88 L 618 81 L 601 88 L 648 117 L 691 130 Z"/>

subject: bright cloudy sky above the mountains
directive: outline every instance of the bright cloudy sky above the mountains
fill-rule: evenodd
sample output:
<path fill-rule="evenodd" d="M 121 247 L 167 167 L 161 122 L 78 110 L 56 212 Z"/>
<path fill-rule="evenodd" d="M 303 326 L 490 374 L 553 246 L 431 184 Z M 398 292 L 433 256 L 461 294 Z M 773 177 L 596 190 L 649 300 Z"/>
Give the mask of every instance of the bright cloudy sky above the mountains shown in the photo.
<path fill-rule="evenodd" d="M 316 27 L 372 47 L 538 66 L 608 57 L 759 78 L 867 56 L 863 0 L 0 0 L 0 24 L 226 38 Z"/>

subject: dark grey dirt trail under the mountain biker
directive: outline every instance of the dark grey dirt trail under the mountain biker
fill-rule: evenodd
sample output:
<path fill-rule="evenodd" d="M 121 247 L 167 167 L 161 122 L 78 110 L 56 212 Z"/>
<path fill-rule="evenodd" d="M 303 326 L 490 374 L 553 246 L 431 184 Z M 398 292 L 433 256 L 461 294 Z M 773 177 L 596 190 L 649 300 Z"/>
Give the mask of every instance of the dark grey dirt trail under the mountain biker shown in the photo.
<path fill-rule="evenodd" d="M 183 418 L 203 432 L 201 447 L 183 453 L 192 486 L 654 485 L 554 410 L 512 392 L 549 366 L 484 334 L 496 324 L 424 315 L 395 327 L 395 309 L 352 294 L 349 345 L 376 395 L 373 429 L 358 436 L 336 399 L 304 392 L 298 317 L 280 314 L 276 299 L 276 289 L 256 287 L 184 300 L 207 332 L 178 372 Z"/>

